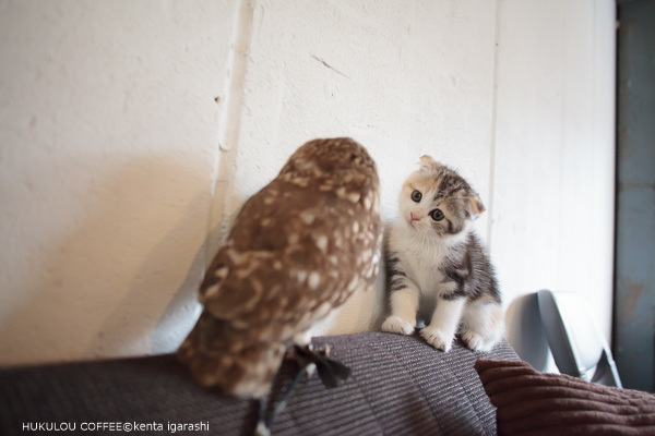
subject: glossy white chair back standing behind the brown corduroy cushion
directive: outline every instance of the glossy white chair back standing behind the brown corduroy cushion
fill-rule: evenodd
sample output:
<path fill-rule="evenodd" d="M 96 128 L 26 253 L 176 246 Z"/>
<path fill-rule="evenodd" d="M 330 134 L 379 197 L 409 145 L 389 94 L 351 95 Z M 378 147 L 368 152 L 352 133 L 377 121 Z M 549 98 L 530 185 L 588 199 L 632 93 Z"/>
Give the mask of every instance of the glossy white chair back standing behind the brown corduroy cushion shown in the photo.
<path fill-rule="evenodd" d="M 537 292 L 548 346 L 560 373 L 622 387 L 605 337 L 586 301 L 572 292 Z"/>

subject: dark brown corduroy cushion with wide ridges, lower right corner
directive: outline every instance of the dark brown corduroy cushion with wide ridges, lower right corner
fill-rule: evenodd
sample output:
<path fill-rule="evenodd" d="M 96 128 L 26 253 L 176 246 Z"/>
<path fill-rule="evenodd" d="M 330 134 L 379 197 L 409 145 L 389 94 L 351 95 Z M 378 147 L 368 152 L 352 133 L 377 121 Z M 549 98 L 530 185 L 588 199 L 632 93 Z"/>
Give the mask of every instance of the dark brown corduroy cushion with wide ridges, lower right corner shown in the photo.
<path fill-rule="evenodd" d="M 655 435 L 655 396 L 545 374 L 521 361 L 478 360 L 500 435 Z"/>

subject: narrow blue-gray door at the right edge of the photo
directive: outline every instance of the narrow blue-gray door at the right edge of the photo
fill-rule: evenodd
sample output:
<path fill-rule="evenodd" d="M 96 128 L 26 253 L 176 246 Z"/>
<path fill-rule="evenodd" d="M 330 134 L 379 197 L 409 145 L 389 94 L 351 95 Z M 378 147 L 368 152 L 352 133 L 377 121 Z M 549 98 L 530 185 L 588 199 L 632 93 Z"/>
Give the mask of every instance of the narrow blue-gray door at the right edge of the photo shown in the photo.
<path fill-rule="evenodd" d="M 619 1 L 614 354 L 626 388 L 653 392 L 655 1 Z"/>

